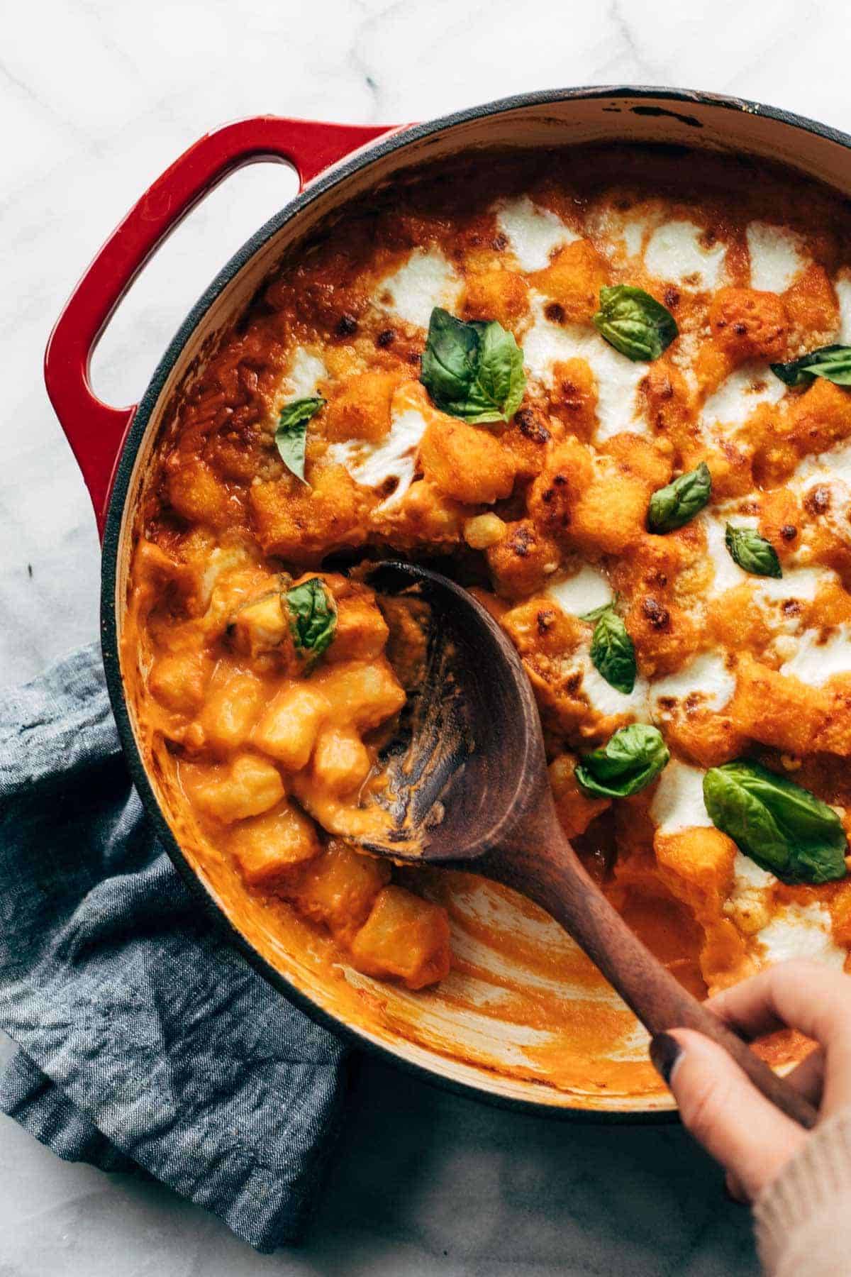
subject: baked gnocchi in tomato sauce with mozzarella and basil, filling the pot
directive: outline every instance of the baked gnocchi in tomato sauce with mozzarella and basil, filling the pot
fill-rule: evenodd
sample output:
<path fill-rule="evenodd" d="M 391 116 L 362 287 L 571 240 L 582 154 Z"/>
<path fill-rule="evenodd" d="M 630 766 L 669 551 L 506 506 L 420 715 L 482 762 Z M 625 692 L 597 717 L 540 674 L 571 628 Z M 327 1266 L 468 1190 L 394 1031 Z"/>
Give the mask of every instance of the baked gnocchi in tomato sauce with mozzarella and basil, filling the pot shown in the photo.
<path fill-rule="evenodd" d="M 498 155 L 292 252 L 175 400 L 137 526 L 125 677 L 199 845 L 342 964 L 448 974 L 445 903 L 359 848 L 424 631 L 356 564 L 440 555 L 667 965 L 846 964 L 847 221 L 731 160 Z"/>

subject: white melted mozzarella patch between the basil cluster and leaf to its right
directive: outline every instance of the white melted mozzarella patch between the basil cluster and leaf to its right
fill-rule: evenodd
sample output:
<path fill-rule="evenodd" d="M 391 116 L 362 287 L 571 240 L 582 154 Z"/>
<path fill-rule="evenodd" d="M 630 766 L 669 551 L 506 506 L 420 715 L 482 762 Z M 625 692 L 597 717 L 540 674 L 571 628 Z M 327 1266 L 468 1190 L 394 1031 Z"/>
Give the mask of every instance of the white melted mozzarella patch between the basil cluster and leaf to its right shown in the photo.
<path fill-rule="evenodd" d="M 533 314 L 532 326 L 523 337 L 523 358 L 529 374 L 551 386 L 556 364 L 584 359 L 597 382 L 595 441 L 602 443 L 624 430 L 649 437 L 638 404 L 638 387 L 649 365 L 618 354 L 596 328 L 552 323 L 544 314 L 540 298 L 535 299 Z"/>

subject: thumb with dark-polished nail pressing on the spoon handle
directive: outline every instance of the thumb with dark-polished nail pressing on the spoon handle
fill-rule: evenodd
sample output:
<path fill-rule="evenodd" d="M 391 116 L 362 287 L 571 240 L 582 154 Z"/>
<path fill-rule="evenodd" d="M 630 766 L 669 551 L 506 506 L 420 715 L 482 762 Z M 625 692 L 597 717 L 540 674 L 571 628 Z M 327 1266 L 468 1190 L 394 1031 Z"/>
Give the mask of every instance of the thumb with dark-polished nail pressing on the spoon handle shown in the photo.
<path fill-rule="evenodd" d="M 657 1033 L 651 1059 L 684 1125 L 753 1202 L 806 1139 L 716 1042 L 693 1029 Z"/>

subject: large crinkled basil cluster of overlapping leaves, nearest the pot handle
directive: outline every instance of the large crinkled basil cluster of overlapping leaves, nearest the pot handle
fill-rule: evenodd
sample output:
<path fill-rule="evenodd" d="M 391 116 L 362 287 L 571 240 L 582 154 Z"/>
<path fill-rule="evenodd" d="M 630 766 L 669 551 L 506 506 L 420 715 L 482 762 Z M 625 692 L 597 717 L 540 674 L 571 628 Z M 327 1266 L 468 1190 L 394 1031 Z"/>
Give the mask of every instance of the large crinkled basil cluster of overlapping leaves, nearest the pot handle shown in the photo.
<path fill-rule="evenodd" d="M 471 425 L 508 421 L 526 389 L 523 351 L 496 321 L 464 323 L 435 306 L 420 381 L 441 412 Z"/>

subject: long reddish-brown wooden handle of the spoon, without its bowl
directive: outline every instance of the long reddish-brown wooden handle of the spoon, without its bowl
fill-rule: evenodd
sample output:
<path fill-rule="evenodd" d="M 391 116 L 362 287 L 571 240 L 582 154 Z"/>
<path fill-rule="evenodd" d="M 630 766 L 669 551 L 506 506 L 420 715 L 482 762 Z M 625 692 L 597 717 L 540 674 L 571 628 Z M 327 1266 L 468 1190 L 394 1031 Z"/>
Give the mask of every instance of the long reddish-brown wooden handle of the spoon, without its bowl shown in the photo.
<path fill-rule="evenodd" d="M 781 1112 L 806 1129 L 815 1125 L 818 1115 L 813 1106 L 683 988 L 629 930 L 583 868 L 555 812 L 546 843 L 541 839 L 532 850 L 514 847 L 510 854 L 499 853 L 492 876 L 546 909 L 584 949 L 649 1033 L 697 1029 L 722 1046 Z"/>

